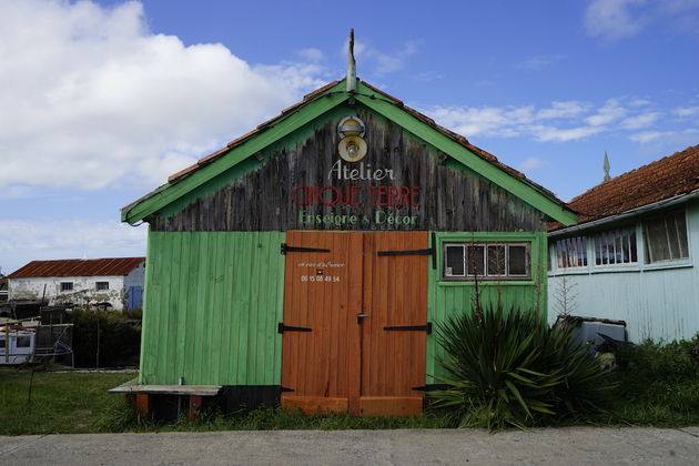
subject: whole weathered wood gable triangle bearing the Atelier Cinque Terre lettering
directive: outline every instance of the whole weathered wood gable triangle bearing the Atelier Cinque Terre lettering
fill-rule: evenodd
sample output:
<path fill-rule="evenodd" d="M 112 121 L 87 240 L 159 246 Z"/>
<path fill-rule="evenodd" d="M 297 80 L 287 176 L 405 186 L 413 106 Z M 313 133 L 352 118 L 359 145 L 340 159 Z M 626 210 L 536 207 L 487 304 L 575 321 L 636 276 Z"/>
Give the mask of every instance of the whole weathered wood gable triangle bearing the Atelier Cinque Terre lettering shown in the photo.
<path fill-rule="evenodd" d="M 347 115 L 357 115 L 366 125 L 368 152 L 361 163 L 341 161 L 337 154 L 337 123 Z M 376 176 L 368 180 L 367 174 Z M 544 217 L 355 103 L 333 109 L 146 221 L 152 231 L 496 232 L 544 231 Z"/>

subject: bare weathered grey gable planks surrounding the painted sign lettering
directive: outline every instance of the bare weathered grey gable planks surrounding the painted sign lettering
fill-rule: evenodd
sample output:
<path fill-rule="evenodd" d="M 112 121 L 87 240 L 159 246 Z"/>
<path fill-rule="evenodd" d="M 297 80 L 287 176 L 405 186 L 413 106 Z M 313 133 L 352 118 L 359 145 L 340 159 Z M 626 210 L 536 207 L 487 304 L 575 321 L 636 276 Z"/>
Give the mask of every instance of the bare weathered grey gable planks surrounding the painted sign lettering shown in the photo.
<path fill-rule="evenodd" d="M 318 121 L 308 139 L 292 148 L 270 148 L 264 153 L 265 163 L 237 166 L 226 182 L 213 183 L 192 192 L 191 202 L 181 207 L 149 217 L 156 231 L 286 231 L 306 230 L 439 230 L 439 231 L 517 231 L 545 229 L 541 213 L 526 202 L 502 190 L 496 183 L 479 178 L 477 173 L 458 162 L 444 165 L 447 155 L 428 146 L 401 125 L 374 118 L 367 109 L 357 113 L 366 120 L 369 151 L 363 163 L 373 168 L 391 169 L 394 180 L 328 180 L 328 172 L 338 160 L 336 154 L 336 119 Z M 405 138 L 404 138 L 405 136 Z M 487 163 L 487 162 L 486 162 Z M 247 165 L 246 165 L 247 166 Z M 499 170 L 499 169 L 496 169 Z M 223 183 L 223 184 L 222 184 Z M 372 206 L 368 199 L 359 206 L 296 205 L 291 202 L 297 186 L 324 186 L 337 189 L 358 186 L 364 197 L 371 189 L 381 185 L 421 186 L 421 206 Z M 464 188 L 463 188 L 464 186 Z M 476 189 L 473 189 L 475 186 Z M 468 200 L 464 196 L 468 193 Z M 260 202 L 257 193 L 265 193 Z M 462 215 L 463 203 L 472 215 Z M 298 222 L 298 212 L 310 215 L 355 214 L 374 219 L 377 210 L 388 213 L 416 215 L 411 225 L 365 224 L 334 225 Z M 523 216 L 523 213 L 525 215 Z M 175 219 L 176 221 L 172 221 Z M 194 221 L 192 221 L 194 219 Z M 223 219 L 223 220 L 221 220 Z"/>

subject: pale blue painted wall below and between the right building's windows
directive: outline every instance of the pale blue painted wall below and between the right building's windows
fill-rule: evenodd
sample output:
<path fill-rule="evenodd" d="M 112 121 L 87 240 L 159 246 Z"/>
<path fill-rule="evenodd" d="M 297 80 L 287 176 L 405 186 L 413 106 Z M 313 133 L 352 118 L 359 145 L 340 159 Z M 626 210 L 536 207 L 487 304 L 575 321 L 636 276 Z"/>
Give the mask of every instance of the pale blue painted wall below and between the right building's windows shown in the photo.
<path fill-rule="evenodd" d="M 563 311 L 559 297 L 566 288 L 573 296 L 570 314 L 626 321 L 632 342 L 646 338 L 670 342 L 696 335 L 699 332 L 699 201 L 686 205 L 686 212 L 689 260 L 645 264 L 640 217 L 630 221 L 637 225 L 638 264 L 595 266 L 588 242 L 587 267 L 557 270 L 555 252 L 549 250 L 554 267 L 548 274 L 549 321 L 555 321 Z M 591 232 L 575 235 L 582 234 L 589 237 Z M 549 244 L 558 239 L 549 239 Z"/>

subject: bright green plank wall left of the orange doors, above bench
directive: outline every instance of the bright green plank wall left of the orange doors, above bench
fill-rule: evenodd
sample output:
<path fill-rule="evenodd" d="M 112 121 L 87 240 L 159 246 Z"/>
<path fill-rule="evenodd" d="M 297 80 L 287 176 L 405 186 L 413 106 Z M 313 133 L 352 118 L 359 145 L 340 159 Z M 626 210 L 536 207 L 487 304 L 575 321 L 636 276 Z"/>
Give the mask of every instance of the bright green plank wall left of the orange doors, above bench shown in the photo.
<path fill-rule="evenodd" d="M 281 232 L 149 233 L 141 384 L 278 385 Z"/>

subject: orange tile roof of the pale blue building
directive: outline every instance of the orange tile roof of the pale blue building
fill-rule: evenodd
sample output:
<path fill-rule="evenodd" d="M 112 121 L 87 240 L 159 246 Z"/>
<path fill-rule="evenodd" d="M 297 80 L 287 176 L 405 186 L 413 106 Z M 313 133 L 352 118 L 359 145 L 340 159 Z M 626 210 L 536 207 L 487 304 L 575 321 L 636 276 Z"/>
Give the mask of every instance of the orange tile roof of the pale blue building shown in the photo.
<path fill-rule="evenodd" d="M 699 189 L 699 145 L 612 178 L 573 199 L 578 223 L 616 215 Z M 551 223 L 550 230 L 563 227 Z"/>

